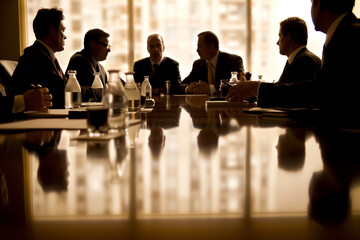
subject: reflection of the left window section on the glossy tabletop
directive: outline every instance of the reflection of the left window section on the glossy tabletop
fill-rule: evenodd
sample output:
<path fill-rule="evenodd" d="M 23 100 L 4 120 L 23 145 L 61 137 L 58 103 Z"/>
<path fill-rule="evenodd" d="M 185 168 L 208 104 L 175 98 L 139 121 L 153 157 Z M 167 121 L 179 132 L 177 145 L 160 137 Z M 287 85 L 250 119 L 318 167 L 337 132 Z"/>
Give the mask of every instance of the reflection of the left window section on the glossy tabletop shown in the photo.
<path fill-rule="evenodd" d="M 27 148 L 34 219 L 128 217 L 128 140 L 70 142 Z M 34 150 L 36 149 L 36 150 Z M 35 177 L 37 176 L 37 178 Z"/>

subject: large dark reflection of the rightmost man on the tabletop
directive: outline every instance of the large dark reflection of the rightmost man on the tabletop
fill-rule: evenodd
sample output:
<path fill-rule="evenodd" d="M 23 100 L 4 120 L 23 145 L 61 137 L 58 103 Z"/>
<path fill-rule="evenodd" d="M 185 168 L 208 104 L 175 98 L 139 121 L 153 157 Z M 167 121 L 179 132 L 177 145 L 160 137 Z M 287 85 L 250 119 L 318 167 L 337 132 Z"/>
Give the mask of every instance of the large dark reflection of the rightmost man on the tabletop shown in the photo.
<path fill-rule="evenodd" d="M 327 129 L 316 139 L 324 167 L 310 181 L 309 216 L 321 224 L 341 224 L 351 212 L 350 190 L 359 185 L 359 134 Z"/>

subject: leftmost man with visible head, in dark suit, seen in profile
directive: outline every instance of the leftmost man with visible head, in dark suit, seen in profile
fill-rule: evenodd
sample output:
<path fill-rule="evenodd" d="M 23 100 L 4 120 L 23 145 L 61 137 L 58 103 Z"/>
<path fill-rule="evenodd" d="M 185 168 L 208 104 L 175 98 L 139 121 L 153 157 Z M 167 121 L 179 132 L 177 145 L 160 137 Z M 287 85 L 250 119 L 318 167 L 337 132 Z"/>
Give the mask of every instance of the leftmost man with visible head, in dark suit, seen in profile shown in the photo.
<path fill-rule="evenodd" d="M 33 22 L 36 41 L 25 48 L 11 80 L 15 94 L 23 94 L 38 84 L 48 88 L 53 108 L 64 108 L 65 103 L 66 78 L 54 54 L 64 50 L 63 19 L 62 10 L 57 8 L 37 12 Z"/>

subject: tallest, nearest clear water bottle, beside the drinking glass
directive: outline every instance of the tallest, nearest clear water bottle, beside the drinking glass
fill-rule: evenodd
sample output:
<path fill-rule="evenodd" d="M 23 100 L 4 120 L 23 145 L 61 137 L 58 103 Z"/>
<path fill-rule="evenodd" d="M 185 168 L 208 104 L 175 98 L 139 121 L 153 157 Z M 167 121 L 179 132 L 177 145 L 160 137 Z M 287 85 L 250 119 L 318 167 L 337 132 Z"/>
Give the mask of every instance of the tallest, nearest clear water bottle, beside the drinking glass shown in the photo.
<path fill-rule="evenodd" d="M 122 130 L 127 126 L 128 98 L 120 80 L 118 70 L 109 71 L 108 88 L 104 106 L 108 108 L 108 125 L 111 130 Z"/>

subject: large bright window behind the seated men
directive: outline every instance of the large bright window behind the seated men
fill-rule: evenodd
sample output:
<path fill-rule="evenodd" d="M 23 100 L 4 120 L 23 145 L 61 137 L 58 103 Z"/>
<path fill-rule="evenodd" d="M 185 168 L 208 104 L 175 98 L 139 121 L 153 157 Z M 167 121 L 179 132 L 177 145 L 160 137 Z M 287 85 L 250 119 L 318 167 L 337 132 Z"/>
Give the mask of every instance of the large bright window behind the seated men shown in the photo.
<path fill-rule="evenodd" d="M 128 14 L 127 0 L 28 1 L 28 44 L 35 40 L 32 21 L 37 10 L 55 4 L 64 10 L 67 27 L 65 50 L 56 53 L 63 69 L 71 55 L 81 50 L 79 43 L 87 30 L 102 28 L 110 33 L 112 45 L 103 63 L 106 68 L 132 70 L 129 54 L 134 56 L 134 61 L 147 57 L 147 36 L 156 32 L 164 38 L 164 55 L 179 62 L 181 76 L 185 78 L 198 58 L 197 34 L 211 30 L 220 39 L 220 50 L 240 55 L 253 79 L 263 75 L 265 81 L 271 82 L 278 79 L 286 61 L 276 44 L 280 21 L 292 16 L 303 18 L 309 31 L 308 48 L 318 56 L 325 40 L 323 33 L 314 30 L 311 1 L 252 0 L 251 36 L 247 36 L 248 0 L 133 0 L 132 3 L 133 12 Z M 132 26 L 128 23 L 129 16 L 134 17 Z M 128 42 L 129 33 L 134 35 L 132 44 Z M 248 44 L 251 44 L 251 58 L 247 56 Z"/>

